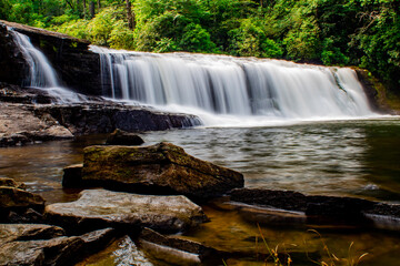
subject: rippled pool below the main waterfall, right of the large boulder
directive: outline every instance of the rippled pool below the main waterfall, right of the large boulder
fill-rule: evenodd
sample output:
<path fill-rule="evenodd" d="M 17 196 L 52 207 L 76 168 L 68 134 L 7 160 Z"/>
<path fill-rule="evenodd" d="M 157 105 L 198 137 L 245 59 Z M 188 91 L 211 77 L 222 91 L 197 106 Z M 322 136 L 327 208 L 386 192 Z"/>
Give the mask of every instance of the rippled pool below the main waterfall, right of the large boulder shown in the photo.
<path fill-rule="evenodd" d="M 398 120 L 197 129 L 143 137 L 240 171 L 248 187 L 400 200 Z"/>

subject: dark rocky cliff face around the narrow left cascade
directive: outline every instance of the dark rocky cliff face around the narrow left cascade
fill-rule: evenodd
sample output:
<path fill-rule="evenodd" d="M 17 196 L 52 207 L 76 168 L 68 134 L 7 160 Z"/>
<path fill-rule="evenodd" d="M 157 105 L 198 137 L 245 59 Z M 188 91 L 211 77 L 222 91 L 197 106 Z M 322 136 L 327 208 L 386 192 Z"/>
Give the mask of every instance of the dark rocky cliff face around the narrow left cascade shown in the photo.
<path fill-rule="evenodd" d="M 61 83 L 76 92 L 101 95 L 100 57 L 89 42 L 66 34 L 0 20 L 0 80 L 21 85 L 28 66 L 7 27 L 30 38 L 54 68 Z"/>

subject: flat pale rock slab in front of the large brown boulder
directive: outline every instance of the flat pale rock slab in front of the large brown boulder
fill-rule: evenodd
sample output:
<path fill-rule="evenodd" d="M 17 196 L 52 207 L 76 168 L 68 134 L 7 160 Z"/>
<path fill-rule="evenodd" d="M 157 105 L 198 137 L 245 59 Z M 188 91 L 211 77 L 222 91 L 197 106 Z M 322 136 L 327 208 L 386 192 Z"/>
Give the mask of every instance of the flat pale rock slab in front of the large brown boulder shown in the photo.
<path fill-rule="evenodd" d="M 140 227 L 180 232 L 207 219 L 201 207 L 184 196 L 151 196 L 88 190 L 71 203 L 46 207 L 46 217 L 66 229 L 117 227 L 134 233 Z"/>

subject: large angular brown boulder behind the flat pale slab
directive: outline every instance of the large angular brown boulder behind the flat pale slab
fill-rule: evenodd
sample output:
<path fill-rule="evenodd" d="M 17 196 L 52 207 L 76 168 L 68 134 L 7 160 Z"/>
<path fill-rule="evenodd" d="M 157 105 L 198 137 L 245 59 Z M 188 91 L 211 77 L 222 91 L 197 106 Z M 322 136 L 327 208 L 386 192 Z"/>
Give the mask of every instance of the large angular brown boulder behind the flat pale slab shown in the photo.
<path fill-rule="evenodd" d="M 82 180 L 91 185 L 210 198 L 243 186 L 243 175 L 201 161 L 170 143 L 84 149 Z"/>

